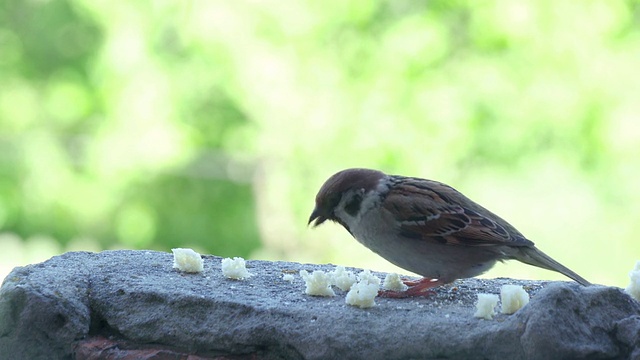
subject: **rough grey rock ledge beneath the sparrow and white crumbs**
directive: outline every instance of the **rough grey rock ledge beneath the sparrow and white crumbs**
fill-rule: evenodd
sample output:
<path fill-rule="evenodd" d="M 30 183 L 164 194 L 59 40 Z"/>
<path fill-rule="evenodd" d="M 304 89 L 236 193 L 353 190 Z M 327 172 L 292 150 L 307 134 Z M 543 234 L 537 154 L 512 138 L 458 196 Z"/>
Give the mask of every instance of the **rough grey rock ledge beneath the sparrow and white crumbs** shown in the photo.
<path fill-rule="evenodd" d="M 360 309 L 338 289 L 304 294 L 298 271 L 332 265 L 248 261 L 254 275 L 237 281 L 222 276 L 219 257 L 204 259 L 201 274 L 154 251 L 73 252 L 16 268 L 0 289 L 0 358 L 640 358 L 640 303 L 618 288 L 467 279 Z M 474 318 L 477 293 L 507 283 L 531 302 Z"/>

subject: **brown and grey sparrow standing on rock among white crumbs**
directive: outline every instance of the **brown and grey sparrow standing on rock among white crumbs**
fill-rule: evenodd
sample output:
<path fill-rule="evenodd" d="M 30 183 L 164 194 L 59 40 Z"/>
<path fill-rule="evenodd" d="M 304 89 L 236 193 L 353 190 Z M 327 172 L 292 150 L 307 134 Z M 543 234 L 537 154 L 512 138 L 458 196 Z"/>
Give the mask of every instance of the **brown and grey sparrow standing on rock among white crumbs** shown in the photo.
<path fill-rule="evenodd" d="M 498 215 L 433 180 L 342 170 L 318 191 L 308 224 L 316 227 L 327 220 L 342 225 L 389 262 L 423 276 L 405 282 L 410 286 L 406 296 L 422 296 L 435 286 L 478 276 L 505 260 L 591 285 Z"/>

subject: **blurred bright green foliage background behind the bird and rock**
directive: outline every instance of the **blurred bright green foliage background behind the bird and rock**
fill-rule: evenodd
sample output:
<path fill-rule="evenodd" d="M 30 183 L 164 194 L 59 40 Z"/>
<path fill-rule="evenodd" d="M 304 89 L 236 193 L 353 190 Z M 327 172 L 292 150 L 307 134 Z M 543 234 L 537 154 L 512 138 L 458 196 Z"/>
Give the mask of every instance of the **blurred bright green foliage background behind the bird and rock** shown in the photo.
<path fill-rule="evenodd" d="M 640 2 L 0 0 L 0 279 L 118 248 L 399 271 L 306 227 L 347 167 L 447 182 L 625 286 Z"/>

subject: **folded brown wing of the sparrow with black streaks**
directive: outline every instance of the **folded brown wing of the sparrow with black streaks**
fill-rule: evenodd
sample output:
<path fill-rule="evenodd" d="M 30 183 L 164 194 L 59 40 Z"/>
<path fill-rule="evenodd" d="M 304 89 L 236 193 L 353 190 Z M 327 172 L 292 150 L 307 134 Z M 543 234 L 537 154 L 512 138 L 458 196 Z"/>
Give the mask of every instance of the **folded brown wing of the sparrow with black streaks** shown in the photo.
<path fill-rule="evenodd" d="M 497 215 L 436 181 L 403 178 L 391 187 L 382 206 L 394 214 L 407 238 L 447 245 L 533 245 Z"/>

